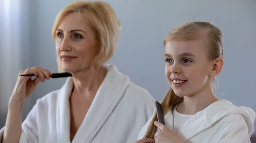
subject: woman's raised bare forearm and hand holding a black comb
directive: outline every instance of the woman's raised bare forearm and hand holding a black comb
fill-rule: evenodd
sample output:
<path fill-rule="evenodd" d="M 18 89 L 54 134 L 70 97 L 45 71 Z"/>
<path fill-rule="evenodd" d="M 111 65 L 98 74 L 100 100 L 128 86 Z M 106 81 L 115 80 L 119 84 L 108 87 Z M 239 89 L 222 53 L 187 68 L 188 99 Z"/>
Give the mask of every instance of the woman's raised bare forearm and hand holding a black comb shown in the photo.
<path fill-rule="evenodd" d="M 18 143 L 22 133 L 22 107 L 24 100 L 31 95 L 40 81 L 50 79 L 51 72 L 41 67 L 32 67 L 26 70 L 20 70 L 20 74 L 34 74 L 37 76 L 34 80 L 31 76 L 18 76 L 12 96 L 9 101 L 9 108 L 6 118 L 6 126 L 3 133 L 3 143 Z M 1 142 L 1 140 L 0 140 Z"/>

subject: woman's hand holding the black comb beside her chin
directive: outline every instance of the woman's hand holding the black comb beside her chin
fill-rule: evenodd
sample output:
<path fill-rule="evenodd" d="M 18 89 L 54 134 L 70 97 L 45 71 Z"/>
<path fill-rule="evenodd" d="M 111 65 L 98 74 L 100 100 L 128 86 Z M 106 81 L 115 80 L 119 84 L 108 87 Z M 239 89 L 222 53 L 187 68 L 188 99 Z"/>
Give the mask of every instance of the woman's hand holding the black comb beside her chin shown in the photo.
<path fill-rule="evenodd" d="M 11 100 L 18 102 L 23 102 L 34 92 L 35 87 L 40 81 L 44 82 L 45 79 L 50 79 L 50 75 L 52 75 L 49 70 L 42 69 L 41 67 L 32 67 L 26 70 L 20 70 L 19 75 L 21 74 L 34 74 L 37 77 L 32 80 L 31 76 L 18 76 L 11 96 Z"/>

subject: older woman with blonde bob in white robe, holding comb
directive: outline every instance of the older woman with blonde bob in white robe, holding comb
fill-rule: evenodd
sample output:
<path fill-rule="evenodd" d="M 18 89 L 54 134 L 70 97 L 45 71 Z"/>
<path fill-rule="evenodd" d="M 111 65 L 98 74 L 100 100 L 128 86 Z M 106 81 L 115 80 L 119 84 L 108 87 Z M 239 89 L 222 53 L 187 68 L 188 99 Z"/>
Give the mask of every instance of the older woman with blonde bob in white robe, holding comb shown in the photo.
<path fill-rule="evenodd" d="M 52 29 L 58 67 L 70 72 L 60 90 L 38 99 L 21 123 L 23 101 L 52 74 L 40 67 L 21 70 L 9 101 L 3 143 L 134 143 L 154 110 L 154 98 L 132 83 L 111 58 L 120 23 L 108 4 L 70 3 Z"/>

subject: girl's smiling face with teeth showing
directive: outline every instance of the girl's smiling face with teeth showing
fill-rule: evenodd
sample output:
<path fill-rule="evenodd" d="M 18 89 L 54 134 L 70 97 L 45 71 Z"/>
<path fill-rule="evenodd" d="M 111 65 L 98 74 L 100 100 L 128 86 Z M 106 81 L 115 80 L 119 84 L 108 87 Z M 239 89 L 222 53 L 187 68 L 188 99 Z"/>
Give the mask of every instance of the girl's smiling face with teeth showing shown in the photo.
<path fill-rule="evenodd" d="M 212 89 L 214 62 L 204 40 L 170 41 L 165 46 L 165 76 L 177 96 Z"/>

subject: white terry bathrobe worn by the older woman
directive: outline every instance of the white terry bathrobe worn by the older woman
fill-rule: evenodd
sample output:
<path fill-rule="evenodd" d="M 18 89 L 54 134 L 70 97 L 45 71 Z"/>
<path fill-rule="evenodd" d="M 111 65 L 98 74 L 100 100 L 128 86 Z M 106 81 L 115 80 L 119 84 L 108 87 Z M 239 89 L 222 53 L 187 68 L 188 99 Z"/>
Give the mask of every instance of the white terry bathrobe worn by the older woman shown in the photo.
<path fill-rule="evenodd" d="M 114 65 L 108 73 L 72 143 L 134 143 L 154 111 L 154 98 Z M 73 79 L 38 99 L 22 123 L 20 143 L 70 143 L 69 98 Z M 0 139 L 3 137 L 0 130 Z"/>

